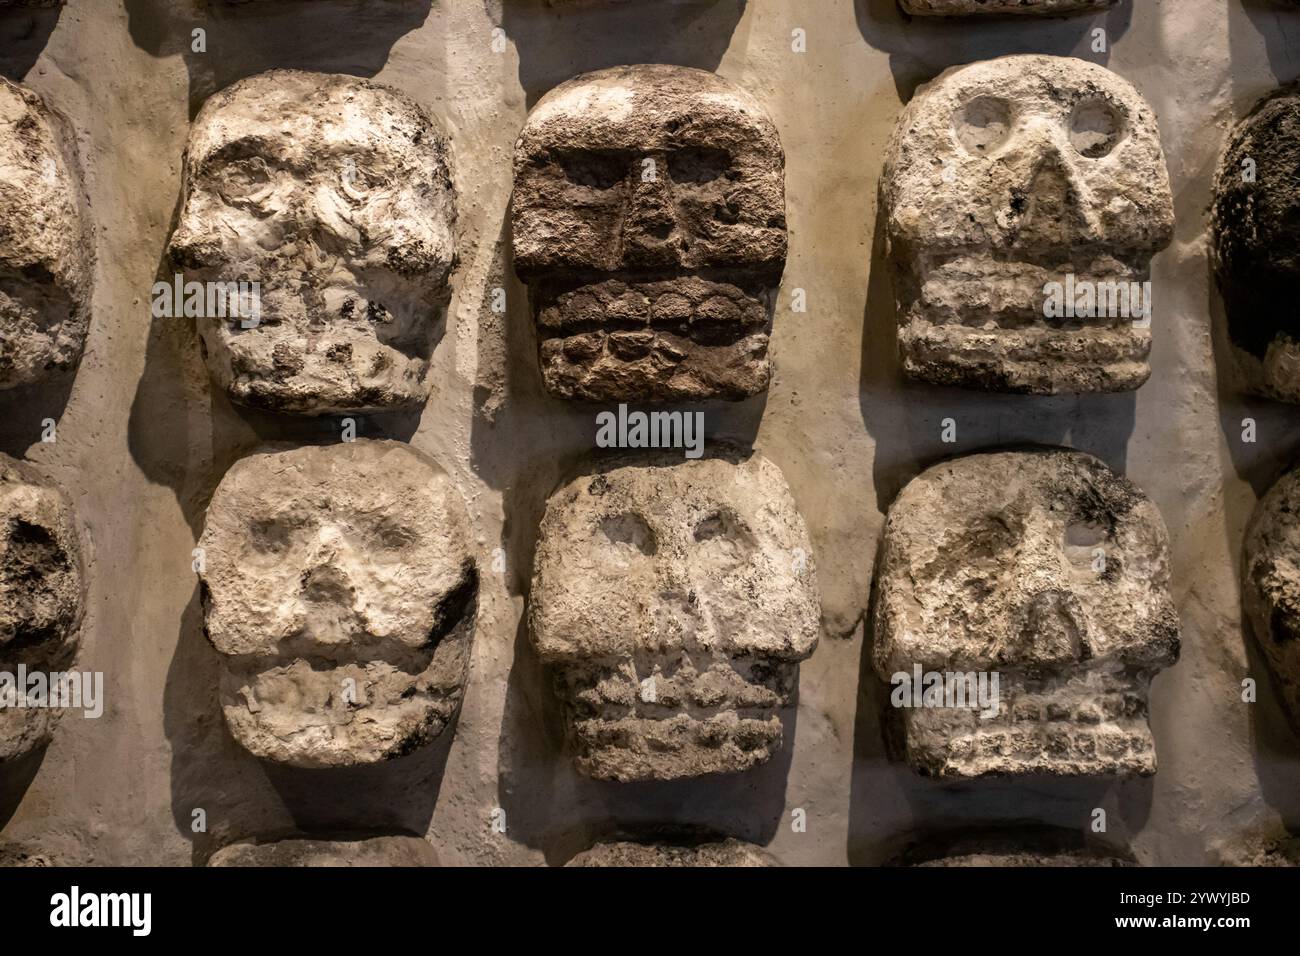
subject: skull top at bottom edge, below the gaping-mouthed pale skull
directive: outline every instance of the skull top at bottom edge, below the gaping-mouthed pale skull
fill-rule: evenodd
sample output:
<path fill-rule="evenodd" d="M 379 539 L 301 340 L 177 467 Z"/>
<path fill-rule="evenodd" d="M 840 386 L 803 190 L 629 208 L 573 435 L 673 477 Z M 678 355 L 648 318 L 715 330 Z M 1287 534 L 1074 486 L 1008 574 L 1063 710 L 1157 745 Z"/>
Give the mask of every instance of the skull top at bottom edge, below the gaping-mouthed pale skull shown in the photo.
<path fill-rule="evenodd" d="M 437 866 L 438 855 L 419 836 L 339 834 L 248 840 L 222 847 L 208 866 Z"/>

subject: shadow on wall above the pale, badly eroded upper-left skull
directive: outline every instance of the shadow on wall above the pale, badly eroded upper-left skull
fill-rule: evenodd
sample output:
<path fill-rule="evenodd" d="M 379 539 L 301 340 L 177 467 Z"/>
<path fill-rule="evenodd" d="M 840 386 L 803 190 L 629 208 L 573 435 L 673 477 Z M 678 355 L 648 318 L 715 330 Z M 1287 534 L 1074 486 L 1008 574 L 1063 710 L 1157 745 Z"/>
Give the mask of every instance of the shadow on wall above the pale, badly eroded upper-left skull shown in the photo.
<path fill-rule="evenodd" d="M 270 69 L 373 77 L 393 46 L 419 29 L 433 0 L 125 0 L 131 40 L 151 56 L 182 56 L 190 117 L 217 90 Z M 196 51 L 195 30 L 204 49 Z M 341 42 L 346 38 L 346 42 Z"/>

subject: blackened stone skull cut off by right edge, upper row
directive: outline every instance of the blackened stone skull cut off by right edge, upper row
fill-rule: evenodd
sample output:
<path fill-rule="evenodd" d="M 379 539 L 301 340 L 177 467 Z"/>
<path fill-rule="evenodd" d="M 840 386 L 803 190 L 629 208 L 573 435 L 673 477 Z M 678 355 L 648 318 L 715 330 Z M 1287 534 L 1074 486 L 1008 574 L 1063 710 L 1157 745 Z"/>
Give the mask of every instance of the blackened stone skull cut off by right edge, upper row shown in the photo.
<path fill-rule="evenodd" d="M 1300 402 L 1300 86 L 1256 104 L 1228 139 L 1214 185 L 1213 261 L 1245 388 Z"/>

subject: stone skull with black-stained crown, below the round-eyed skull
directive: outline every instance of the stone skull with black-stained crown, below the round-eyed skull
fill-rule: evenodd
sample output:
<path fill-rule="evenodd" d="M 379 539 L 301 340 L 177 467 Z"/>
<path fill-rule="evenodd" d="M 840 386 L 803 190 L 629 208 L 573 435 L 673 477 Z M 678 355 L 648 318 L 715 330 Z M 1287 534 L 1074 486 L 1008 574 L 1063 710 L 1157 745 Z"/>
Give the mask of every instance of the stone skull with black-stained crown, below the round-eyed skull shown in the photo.
<path fill-rule="evenodd" d="M 1178 646 L 1165 524 L 1091 455 L 958 458 L 889 509 L 876 672 L 998 675 L 984 715 L 906 701 L 889 714 L 923 774 L 1153 774 L 1148 688 Z"/>

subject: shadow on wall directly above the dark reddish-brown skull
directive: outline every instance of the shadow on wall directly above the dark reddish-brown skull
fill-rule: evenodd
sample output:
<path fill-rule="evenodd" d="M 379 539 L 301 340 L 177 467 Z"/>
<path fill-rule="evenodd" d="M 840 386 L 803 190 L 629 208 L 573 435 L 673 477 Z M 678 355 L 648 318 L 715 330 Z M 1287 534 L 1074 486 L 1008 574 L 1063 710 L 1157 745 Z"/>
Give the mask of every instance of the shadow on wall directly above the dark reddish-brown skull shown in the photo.
<path fill-rule="evenodd" d="M 515 44 L 529 108 L 566 79 L 606 66 L 663 62 L 715 70 L 745 13 L 745 0 L 566 8 L 547 7 L 545 0 L 485 0 L 485 5 L 491 13 L 499 10 L 498 22 Z"/>

